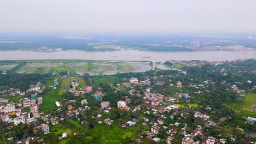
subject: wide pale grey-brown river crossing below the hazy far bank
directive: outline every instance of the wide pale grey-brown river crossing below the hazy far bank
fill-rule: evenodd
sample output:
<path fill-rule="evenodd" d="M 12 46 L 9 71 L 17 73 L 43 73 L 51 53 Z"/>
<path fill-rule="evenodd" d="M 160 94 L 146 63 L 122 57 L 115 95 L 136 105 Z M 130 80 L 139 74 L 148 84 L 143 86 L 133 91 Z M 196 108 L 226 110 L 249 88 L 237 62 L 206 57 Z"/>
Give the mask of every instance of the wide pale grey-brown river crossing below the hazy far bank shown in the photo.
<path fill-rule="evenodd" d="M 146 57 L 146 58 L 143 58 Z M 205 60 L 232 61 L 236 59 L 256 58 L 256 51 L 197 51 L 197 52 L 152 52 L 138 50 L 88 52 L 88 51 L 0 51 L 0 60 L 21 59 L 90 59 L 109 61 L 153 61 L 167 60 Z"/>

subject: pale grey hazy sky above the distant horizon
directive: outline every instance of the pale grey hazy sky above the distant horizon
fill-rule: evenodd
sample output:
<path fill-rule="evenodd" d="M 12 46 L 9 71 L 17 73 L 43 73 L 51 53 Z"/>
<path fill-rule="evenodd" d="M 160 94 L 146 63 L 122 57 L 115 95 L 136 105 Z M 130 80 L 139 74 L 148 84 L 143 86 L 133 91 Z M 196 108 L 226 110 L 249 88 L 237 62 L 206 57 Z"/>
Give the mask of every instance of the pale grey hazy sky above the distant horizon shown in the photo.
<path fill-rule="evenodd" d="M 0 0 L 2 32 L 256 32 L 255 0 Z"/>

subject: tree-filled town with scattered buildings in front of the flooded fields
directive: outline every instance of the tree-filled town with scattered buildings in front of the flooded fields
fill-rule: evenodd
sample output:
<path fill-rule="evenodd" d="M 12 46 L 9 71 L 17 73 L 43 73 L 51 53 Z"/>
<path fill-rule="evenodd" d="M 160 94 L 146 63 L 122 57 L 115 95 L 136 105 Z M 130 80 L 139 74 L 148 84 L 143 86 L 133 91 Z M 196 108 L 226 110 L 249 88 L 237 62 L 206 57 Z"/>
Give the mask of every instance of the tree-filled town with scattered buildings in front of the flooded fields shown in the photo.
<path fill-rule="evenodd" d="M 110 76 L 2 74 L 0 141 L 253 144 L 255 65 L 247 59 Z"/>

